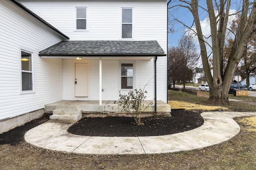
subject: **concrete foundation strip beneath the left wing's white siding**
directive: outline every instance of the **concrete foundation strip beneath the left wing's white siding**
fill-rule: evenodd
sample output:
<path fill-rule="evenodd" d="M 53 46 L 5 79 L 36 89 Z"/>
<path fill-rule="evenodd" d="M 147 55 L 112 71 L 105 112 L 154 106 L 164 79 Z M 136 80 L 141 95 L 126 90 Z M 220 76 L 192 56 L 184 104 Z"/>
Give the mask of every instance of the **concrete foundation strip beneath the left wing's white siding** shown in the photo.
<path fill-rule="evenodd" d="M 22 126 L 27 122 L 30 122 L 34 119 L 38 119 L 39 117 L 42 117 L 44 115 L 44 109 L 39 109 L 36 111 L 31 111 L 29 113 L 12 117 L 9 119 L 4 119 L 0 121 L 0 134 L 10 131 L 11 129 L 14 129 L 15 127 Z"/>

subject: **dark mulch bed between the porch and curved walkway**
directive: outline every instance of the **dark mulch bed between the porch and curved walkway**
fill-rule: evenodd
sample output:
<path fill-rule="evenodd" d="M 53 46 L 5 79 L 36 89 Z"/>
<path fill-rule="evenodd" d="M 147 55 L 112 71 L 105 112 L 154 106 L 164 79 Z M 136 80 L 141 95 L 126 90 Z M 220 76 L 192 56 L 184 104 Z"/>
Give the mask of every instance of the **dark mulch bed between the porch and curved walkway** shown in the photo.
<path fill-rule="evenodd" d="M 136 125 L 133 117 L 84 118 L 68 128 L 69 133 L 86 136 L 158 136 L 189 131 L 201 126 L 204 119 L 193 111 L 172 111 L 172 117 L 144 118 Z"/>

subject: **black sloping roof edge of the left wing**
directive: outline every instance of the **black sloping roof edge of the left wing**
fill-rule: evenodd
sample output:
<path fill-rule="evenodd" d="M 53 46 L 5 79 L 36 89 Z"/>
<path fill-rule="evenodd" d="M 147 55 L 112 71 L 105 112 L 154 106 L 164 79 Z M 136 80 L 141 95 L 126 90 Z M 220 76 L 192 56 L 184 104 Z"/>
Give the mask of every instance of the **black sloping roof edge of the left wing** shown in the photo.
<path fill-rule="evenodd" d="M 67 35 L 65 35 L 64 33 L 60 32 L 58 29 L 56 29 L 55 27 L 53 27 L 50 23 L 46 22 L 45 20 L 43 20 L 42 18 L 40 18 L 38 15 L 36 15 L 34 12 L 30 11 L 28 8 L 26 8 L 25 6 L 23 6 L 22 4 L 20 4 L 20 2 L 16 1 L 16 0 L 10 0 L 11 2 L 13 2 L 14 4 L 16 4 L 17 6 L 19 6 L 20 8 L 22 8 L 22 10 L 26 11 L 28 14 L 30 14 L 31 16 L 33 16 L 34 18 L 36 18 L 38 21 L 42 22 L 44 25 L 50 27 L 52 30 L 54 30 L 55 32 L 57 32 L 58 34 L 60 34 L 63 38 L 65 39 L 69 39 L 69 37 Z"/>

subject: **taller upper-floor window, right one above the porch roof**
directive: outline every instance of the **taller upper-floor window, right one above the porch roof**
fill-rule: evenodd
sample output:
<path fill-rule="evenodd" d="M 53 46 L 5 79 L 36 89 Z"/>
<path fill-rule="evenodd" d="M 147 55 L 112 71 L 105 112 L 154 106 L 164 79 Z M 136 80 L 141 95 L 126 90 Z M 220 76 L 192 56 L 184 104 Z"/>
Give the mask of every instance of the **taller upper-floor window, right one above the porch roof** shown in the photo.
<path fill-rule="evenodd" d="M 122 8 L 122 38 L 132 38 L 132 8 Z"/>

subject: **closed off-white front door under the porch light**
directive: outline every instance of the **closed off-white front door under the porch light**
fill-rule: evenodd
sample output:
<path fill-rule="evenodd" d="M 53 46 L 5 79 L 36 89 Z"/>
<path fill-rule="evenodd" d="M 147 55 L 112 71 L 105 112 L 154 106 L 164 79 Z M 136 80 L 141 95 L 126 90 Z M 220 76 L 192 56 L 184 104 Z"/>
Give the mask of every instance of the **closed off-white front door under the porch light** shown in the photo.
<path fill-rule="evenodd" d="M 88 63 L 75 63 L 75 97 L 88 97 Z"/>

